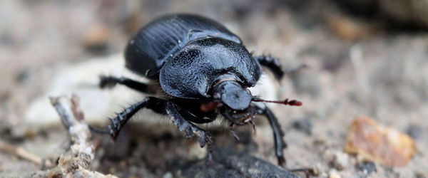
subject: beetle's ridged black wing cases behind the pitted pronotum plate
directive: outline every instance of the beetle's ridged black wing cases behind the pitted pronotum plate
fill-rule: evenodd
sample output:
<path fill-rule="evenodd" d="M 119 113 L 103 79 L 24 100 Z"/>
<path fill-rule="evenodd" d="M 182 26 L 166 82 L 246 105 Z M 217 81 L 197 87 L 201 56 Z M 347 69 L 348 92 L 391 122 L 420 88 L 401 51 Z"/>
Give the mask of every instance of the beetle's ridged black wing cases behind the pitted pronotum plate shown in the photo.
<path fill-rule="evenodd" d="M 224 38 L 242 43 L 238 36 L 220 23 L 201 16 L 165 16 L 141 28 L 126 46 L 126 67 L 148 78 L 157 78 L 165 61 L 189 41 Z"/>

